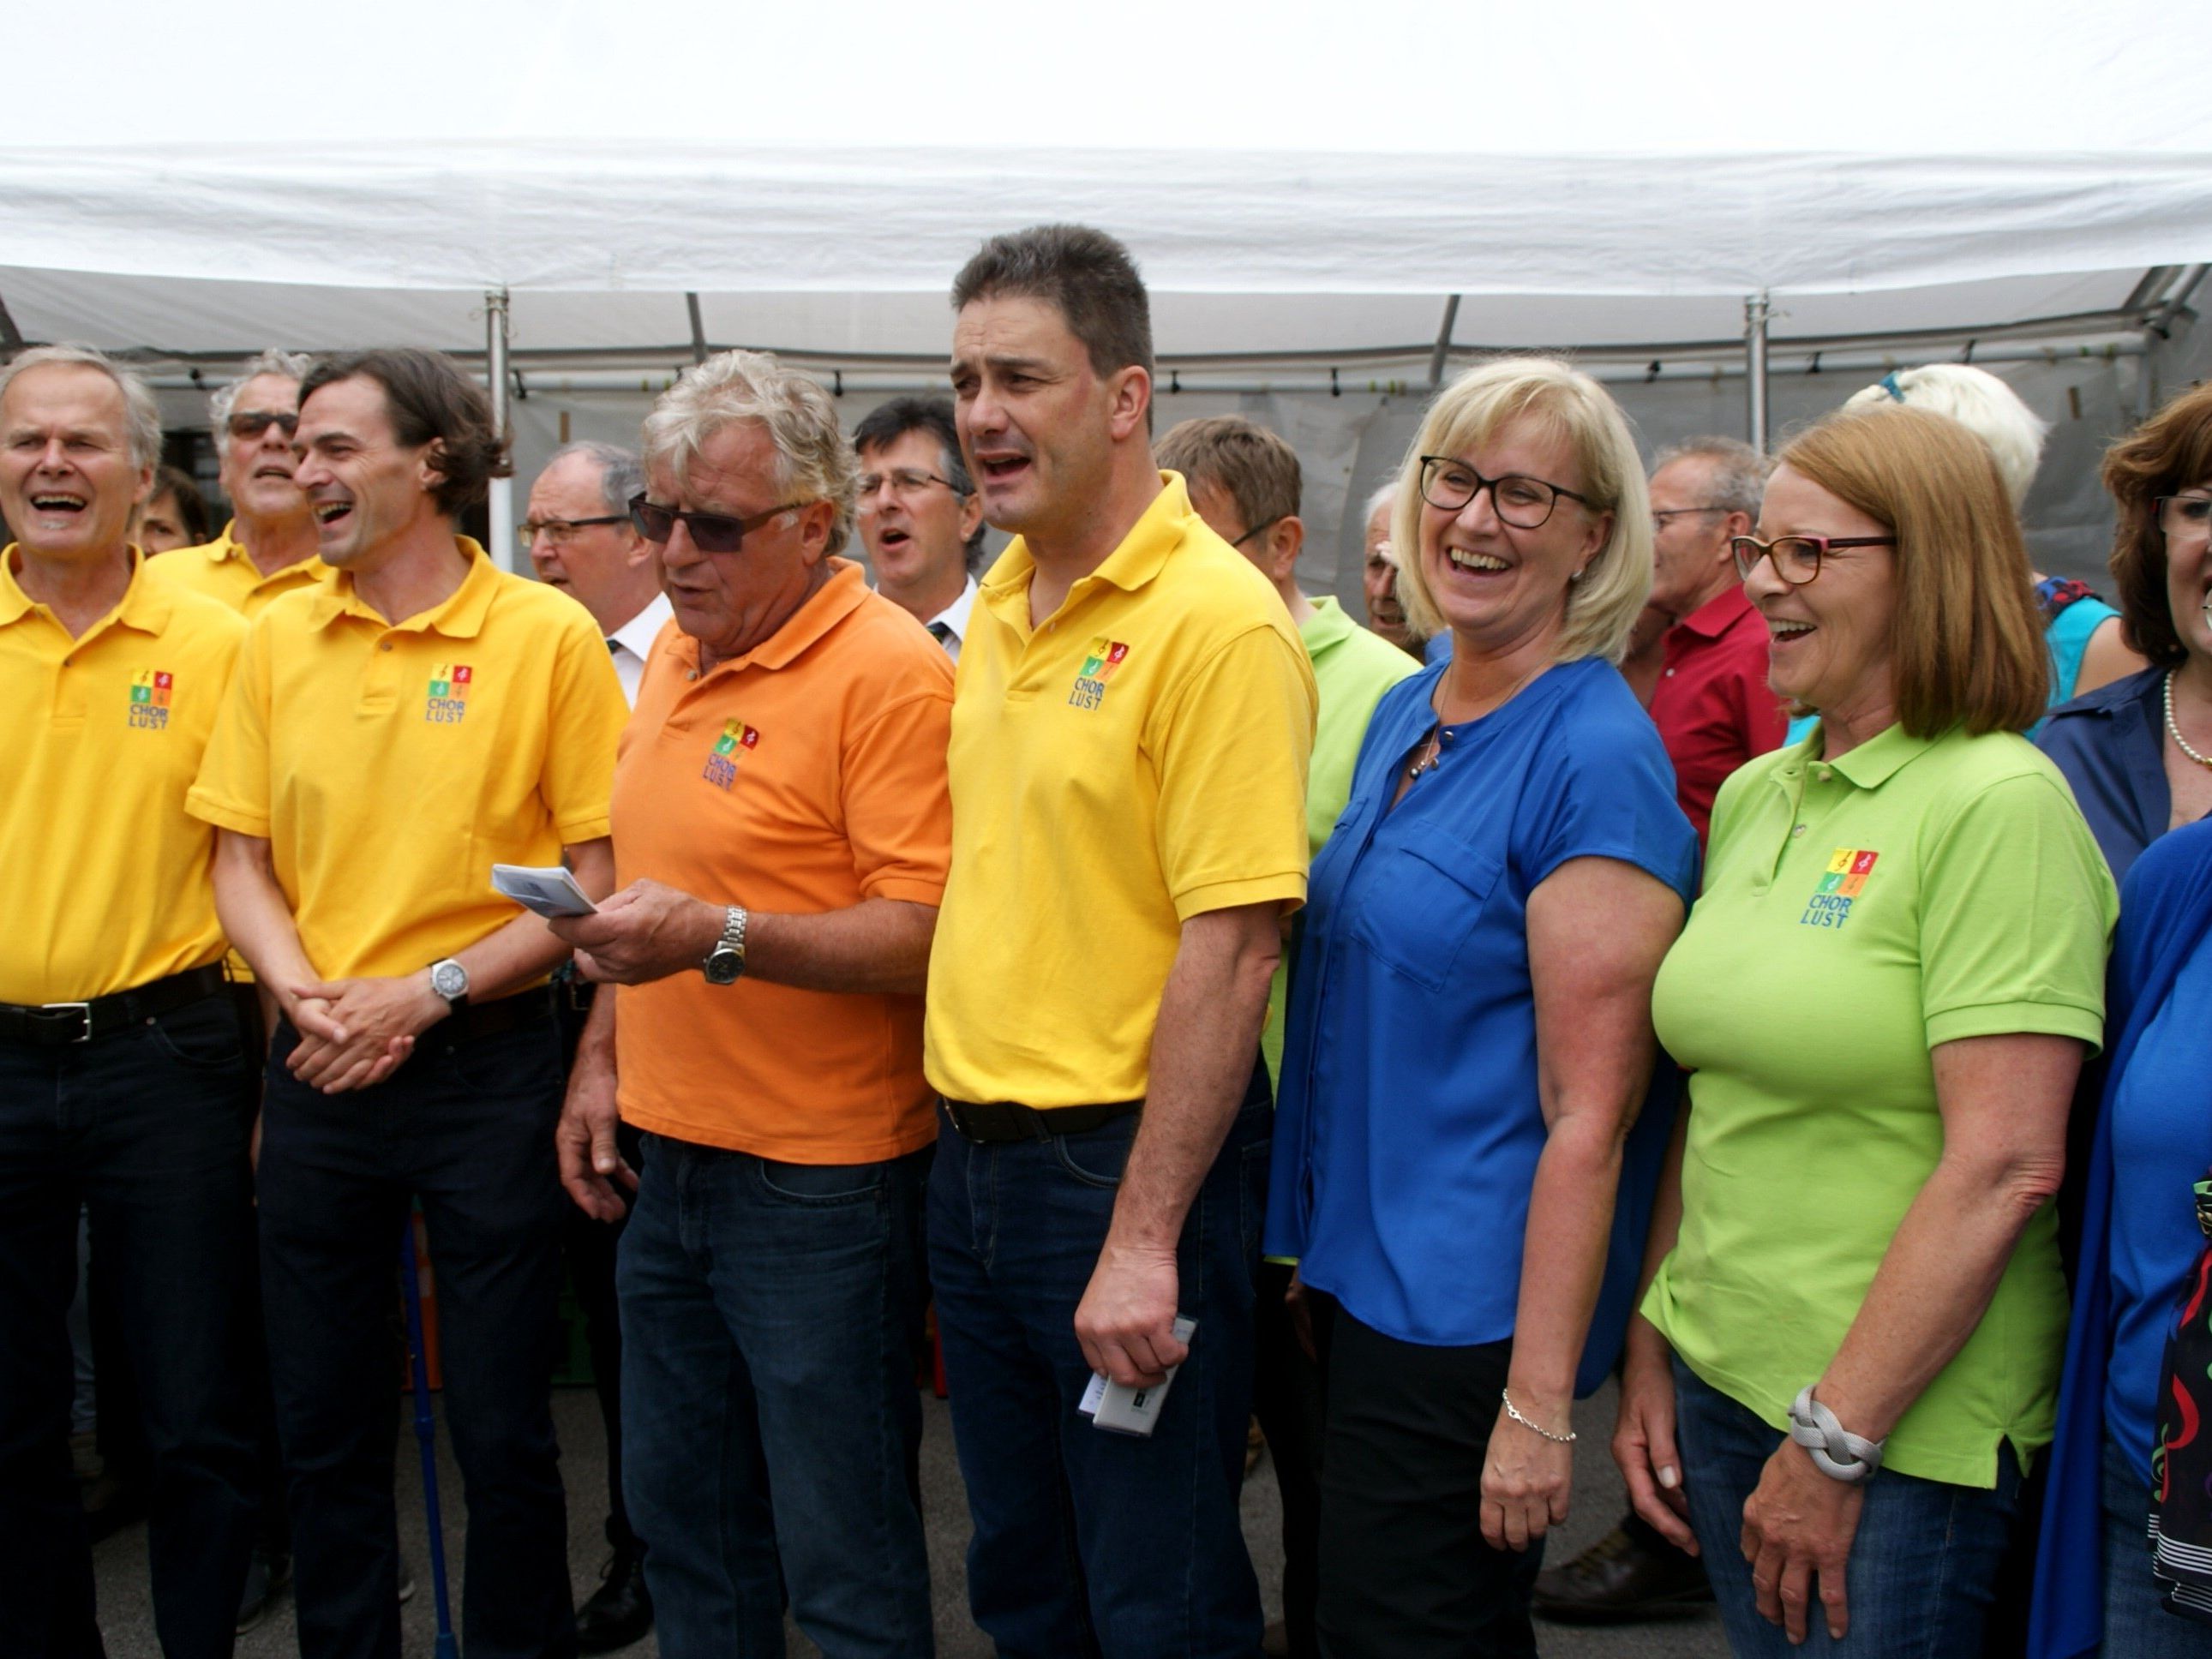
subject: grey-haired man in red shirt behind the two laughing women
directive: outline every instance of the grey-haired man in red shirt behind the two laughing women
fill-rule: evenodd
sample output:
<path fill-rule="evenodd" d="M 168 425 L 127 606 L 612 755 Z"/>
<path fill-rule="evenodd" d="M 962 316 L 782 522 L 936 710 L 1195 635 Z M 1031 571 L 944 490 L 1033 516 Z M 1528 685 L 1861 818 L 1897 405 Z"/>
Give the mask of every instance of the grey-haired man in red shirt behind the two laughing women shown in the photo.
<path fill-rule="evenodd" d="M 1697 825 L 1739 765 L 1781 748 L 1790 714 L 1767 688 L 1767 624 L 1743 597 L 1728 542 L 1750 535 L 1767 460 L 1734 438 L 1692 438 L 1652 469 L 1652 606 L 1674 617 L 1652 721 L 1674 794 Z"/>

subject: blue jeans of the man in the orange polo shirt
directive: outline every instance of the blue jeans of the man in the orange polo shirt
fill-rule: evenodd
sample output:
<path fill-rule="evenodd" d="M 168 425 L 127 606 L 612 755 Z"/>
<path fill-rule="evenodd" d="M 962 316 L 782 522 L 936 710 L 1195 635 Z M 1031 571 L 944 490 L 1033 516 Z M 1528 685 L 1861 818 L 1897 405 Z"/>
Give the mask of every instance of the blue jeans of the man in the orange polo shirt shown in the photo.
<path fill-rule="evenodd" d="M 776 1164 L 664 1135 L 622 1232 L 624 1500 L 670 1659 L 927 1659 L 914 1360 L 931 1148 Z M 770 1498 L 774 1493 L 774 1498 Z"/>

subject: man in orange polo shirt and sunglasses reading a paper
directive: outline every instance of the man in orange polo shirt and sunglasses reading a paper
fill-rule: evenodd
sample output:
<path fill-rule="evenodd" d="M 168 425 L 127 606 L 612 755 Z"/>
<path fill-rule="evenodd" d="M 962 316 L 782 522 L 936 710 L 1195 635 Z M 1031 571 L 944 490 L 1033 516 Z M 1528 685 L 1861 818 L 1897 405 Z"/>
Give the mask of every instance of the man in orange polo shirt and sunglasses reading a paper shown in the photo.
<path fill-rule="evenodd" d="M 827 394 L 723 352 L 646 420 L 633 513 L 679 633 L 615 768 L 602 995 L 562 1179 L 622 1239 L 624 1495 L 666 1652 L 927 1655 L 914 1460 L 922 984 L 951 856 L 953 670 L 834 557 L 858 462 Z M 615 1119 L 644 1130 L 644 1172 Z M 774 1493 L 774 1504 L 770 1502 Z"/>

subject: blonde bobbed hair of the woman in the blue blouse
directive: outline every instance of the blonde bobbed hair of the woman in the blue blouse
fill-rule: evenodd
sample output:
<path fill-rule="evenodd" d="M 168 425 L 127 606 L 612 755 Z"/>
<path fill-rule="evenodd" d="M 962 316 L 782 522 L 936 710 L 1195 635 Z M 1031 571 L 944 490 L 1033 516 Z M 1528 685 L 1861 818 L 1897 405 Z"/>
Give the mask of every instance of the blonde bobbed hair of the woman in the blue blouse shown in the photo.
<path fill-rule="evenodd" d="M 1621 405 L 1588 374 L 1553 356 L 1502 356 L 1478 363 L 1436 394 L 1420 434 L 1398 467 L 1389 535 L 1398 549 L 1398 604 L 1416 633 L 1447 628 L 1420 560 L 1420 458 L 1480 449 L 1509 425 L 1528 420 L 1564 438 L 1590 509 L 1613 515 L 1613 533 L 1566 591 L 1555 661 L 1604 657 L 1617 664 L 1628 630 L 1652 591 L 1652 513 L 1644 460 Z"/>

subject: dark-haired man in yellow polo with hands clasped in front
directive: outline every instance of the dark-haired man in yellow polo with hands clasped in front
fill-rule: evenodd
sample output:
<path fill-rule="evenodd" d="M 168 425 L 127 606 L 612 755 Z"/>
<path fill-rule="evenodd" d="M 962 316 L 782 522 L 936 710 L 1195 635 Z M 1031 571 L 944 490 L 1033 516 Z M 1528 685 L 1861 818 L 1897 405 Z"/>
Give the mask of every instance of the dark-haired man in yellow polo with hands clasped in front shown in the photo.
<path fill-rule="evenodd" d="M 573 1650 L 549 1409 L 566 947 L 491 865 L 613 880 L 626 708 L 591 615 L 456 535 L 504 471 L 480 387 L 434 352 L 301 383 L 299 487 L 327 582 L 246 635 L 190 810 L 217 905 L 274 993 L 261 1285 L 307 1659 L 398 1652 L 392 1259 L 420 1199 L 467 1482 L 462 1646 Z"/>

